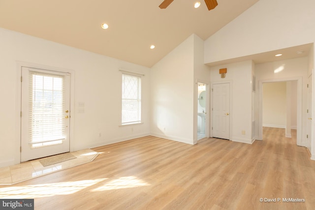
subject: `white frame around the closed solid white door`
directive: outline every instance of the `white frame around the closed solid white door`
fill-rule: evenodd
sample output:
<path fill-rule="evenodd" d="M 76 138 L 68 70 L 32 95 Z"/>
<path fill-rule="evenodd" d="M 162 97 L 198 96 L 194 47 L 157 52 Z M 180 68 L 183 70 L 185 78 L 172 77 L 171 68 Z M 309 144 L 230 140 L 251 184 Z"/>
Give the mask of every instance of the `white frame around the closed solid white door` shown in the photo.
<path fill-rule="evenodd" d="M 210 137 L 213 137 L 213 132 L 212 132 L 212 127 L 213 127 L 213 85 L 217 85 L 217 84 L 224 84 L 224 83 L 229 83 L 230 85 L 230 111 L 229 111 L 229 115 L 230 115 L 230 130 L 229 130 L 229 140 L 231 141 L 232 139 L 232 128 L 233 128 L 233 109 L 232 109 L 232 105 L 233 105 L 233 81 L 232 80 L 226 80 L 226 81 L 215 81 L 215 82 L 211 82 L 211 91 L 210 91 Z"/>

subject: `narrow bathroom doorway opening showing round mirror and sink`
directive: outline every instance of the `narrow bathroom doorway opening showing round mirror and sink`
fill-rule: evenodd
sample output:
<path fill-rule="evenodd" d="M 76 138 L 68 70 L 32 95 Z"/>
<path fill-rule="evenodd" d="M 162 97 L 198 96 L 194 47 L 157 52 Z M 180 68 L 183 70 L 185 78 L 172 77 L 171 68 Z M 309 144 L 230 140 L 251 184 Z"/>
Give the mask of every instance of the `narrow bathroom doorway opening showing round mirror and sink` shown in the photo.
<path fill-rule="evenodd" d="M 197 97 L 197 140 L 200 140 L 207 137 L 208 91 L 206 84 L 198 82 Z"/>

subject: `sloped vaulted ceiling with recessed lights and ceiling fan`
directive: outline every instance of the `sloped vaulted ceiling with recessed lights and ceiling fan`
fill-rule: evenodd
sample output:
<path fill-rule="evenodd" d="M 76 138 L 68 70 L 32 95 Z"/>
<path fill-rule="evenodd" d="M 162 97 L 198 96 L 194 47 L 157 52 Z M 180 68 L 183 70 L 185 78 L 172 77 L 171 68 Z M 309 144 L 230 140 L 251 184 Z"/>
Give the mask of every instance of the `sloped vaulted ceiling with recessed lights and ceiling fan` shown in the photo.
<path fill-rule="evenodd" d="M 205 40 L 258 0 L 217 0 L 210 11 L 204 0 L 197 9 L 196 0 L 160 9 L 162 1 L 0 0 L 0 28 L 151 67 L 192 33 Z"/>

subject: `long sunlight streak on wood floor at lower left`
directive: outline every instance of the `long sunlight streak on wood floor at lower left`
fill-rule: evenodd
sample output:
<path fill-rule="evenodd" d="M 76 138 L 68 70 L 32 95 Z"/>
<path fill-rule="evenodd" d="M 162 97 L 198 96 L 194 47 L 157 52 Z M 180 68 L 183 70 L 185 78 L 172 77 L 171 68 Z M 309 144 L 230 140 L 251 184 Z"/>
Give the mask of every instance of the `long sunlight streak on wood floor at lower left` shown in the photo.
<path fill-rule="evenodd" d="M 0 198 L 23 199 L 73 194 L 106 179 L 67 181 L 0 188 Z"/>

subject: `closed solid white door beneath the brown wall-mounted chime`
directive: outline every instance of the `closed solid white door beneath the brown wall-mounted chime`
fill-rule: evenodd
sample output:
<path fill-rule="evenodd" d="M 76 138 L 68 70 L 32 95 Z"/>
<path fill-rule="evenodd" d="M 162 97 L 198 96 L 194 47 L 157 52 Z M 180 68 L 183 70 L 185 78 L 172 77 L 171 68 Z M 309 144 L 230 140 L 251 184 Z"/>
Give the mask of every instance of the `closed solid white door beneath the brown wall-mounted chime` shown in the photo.
<path fill-rule="evenodd" d="M 212 136 L 230 139 L 230 84 L 213 85 Z"/>

